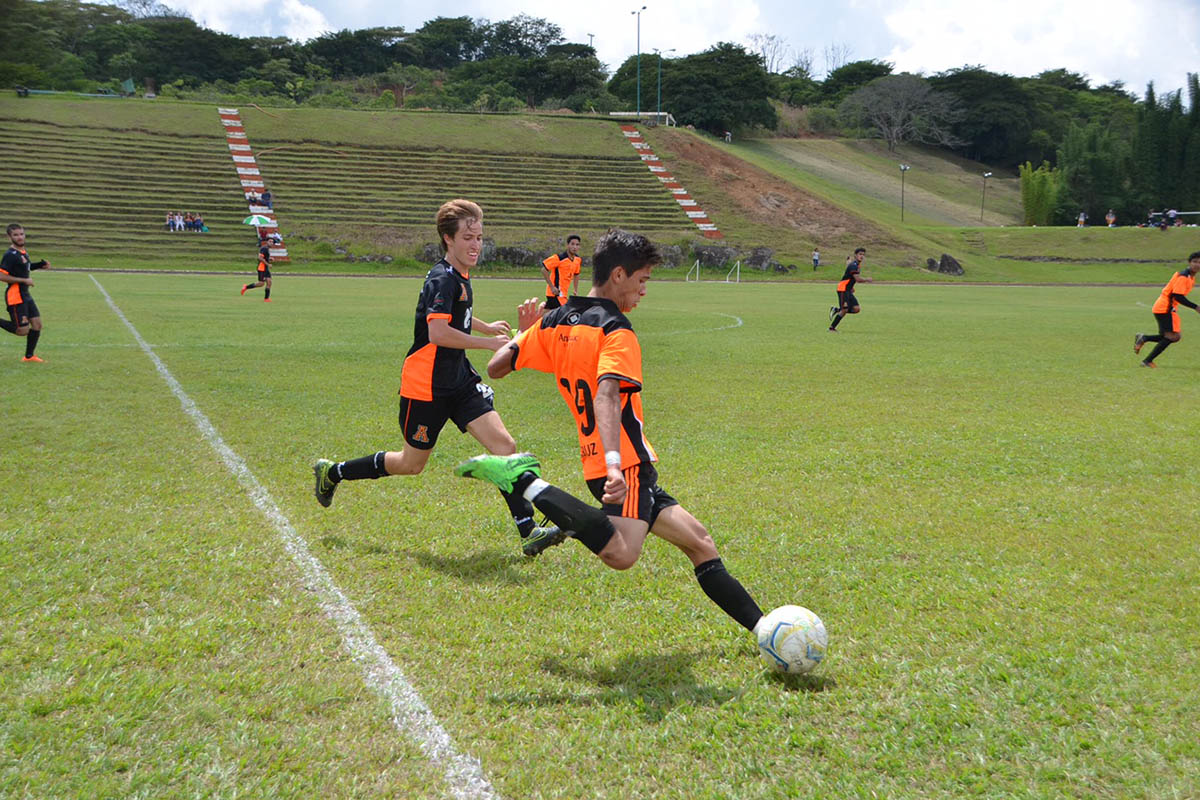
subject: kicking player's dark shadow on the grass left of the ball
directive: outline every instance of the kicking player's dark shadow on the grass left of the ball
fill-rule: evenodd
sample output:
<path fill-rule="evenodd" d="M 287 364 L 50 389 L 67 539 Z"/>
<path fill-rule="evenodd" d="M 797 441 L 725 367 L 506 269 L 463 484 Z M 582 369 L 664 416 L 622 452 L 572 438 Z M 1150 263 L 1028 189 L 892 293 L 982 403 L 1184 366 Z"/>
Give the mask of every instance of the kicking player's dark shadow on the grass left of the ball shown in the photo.
<path fill-rule="evenodd" d="M 690 652 L 656 656 L 625 656 L 613 664 L 588 666 L 587 658 L 546 658 L 541 668 L 577 684 L 594 684 L 594 692 L 514 692 L 493 696 L 504 705 L 631 705 L 647 722 L 661 722 L 678 705 L 718 706 L 740 690 L 701 686 L 691 664 L 700 660 Z"/>

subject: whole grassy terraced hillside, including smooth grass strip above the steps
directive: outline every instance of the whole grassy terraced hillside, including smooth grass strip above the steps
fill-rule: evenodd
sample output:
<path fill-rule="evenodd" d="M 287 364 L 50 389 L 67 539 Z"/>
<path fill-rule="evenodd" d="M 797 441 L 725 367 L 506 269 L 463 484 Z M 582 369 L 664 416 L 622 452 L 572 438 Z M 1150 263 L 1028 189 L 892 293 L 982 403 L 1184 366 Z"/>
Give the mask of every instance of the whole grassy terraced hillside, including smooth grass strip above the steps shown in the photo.
<path fill-rule="evenodd" d="M 194 267 L 253 257 L 214 107 L 5 98 L 0 113 L 11 120 L 0 132 L 0 158 L 11 164 L 0 187 L 17 198 L 10 213 L 29 227 L 35 249 L 88 264 L 121 257 Z M 499 243 L 547 252 L 566 233 L 595 235 L 612 224 L 667 241 L 695 235 L 614 126 L 270 114 L 251 108 L 244 119 L 299 261 L 332 259 L 337 243 L 412 260 L 433 241 L 433 211 L 455 196 L 484 205 Z M 167 210 L 202 212 L 210 233 L 168 234 Z"/>

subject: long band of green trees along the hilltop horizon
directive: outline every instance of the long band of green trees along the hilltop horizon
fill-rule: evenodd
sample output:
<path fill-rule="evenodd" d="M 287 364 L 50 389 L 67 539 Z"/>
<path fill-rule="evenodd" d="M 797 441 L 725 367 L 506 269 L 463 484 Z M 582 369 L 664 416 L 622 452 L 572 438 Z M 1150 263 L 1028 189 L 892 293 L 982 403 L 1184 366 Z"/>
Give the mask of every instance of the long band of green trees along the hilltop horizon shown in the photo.
<path fill-rule="evenodd" d="M 438 17 L 414 31 L 368 28 L 296 42 L 209 30 L 158 0 L 0 0 L 0 85 L 95 91 L 132 80 L 160 96 L 318 107 L 512 112 L 632 110 L 638 58 L 610 76 L 553 23 Z M 640 56 L 641 109 L 724 131 L 877 137 L 922 143 L 1028 176 L 1027 222 L 1066 223 L 1080 210 L 1144 218 L 1200 207 L 1200 88 L 1139 98 L 1121 82 L 1091 86 L 1050 70 L 1014 77 L 980 66 L 896 74 L 881 60 L 826 48 L 785 58 L 775 35 L 754 49 Z M 127 84 L 126 84 L 127 85 Z M 1026 180 L 1022 178 L 1022 181 Z M 1031 215 L 1031 209 L 1036 211 Z"/>

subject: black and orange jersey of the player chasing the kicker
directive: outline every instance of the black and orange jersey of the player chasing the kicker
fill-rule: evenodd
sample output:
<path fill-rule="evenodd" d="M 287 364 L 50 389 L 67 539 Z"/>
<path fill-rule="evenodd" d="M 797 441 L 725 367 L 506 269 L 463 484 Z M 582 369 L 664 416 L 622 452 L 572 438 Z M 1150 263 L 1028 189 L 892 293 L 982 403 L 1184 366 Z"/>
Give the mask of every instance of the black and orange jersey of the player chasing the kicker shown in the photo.
<path fill-rule="evenodd" d="M 468 384 L 479 383 L 479 373 L 467 360 L 466 350 L 430 342 L 430 320 L 433 319 L 444 319 L 450 327 L 469 336 L 473 302 L 469 277 L 445 259 L 433 265 L 416 301 L 413 347 L 408 349 L 400 375 L 402 397 L 432 401 L 434 396 L 452 395 Z"/>

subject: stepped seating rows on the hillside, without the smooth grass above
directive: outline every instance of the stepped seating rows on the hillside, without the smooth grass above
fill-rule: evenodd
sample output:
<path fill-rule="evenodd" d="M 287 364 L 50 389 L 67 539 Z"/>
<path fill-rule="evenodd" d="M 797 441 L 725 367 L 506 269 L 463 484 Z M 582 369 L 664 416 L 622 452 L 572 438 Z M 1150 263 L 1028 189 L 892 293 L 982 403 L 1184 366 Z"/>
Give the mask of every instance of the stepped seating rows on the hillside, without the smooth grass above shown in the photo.
<path fill-rule="evenodd" d="M 384 242 L 397 229 L 434 241 L 433 213 L 452 197 L 486 211 L 502 239 L 622 225 L 656 237 L 692 229 L 670 192 L 636 157 L 455 152 L 414 146 L 320 146 L 253 136 L 256 156 L 286 235 Z M 612 136 L 620 137 L 617 126 Z M 254 258 L 253 228 L 229 150 L 211 136 L 13 121 L 0 128 L 0 190 L 7 215 L 38 251 L 230 264 Z M 210 233 L 168 233 L 167 211 L 197 211 Z M 415 254 L 412 246 L 404 253 Z M 164 265 L 162 263 L 160 266 Z"/>

